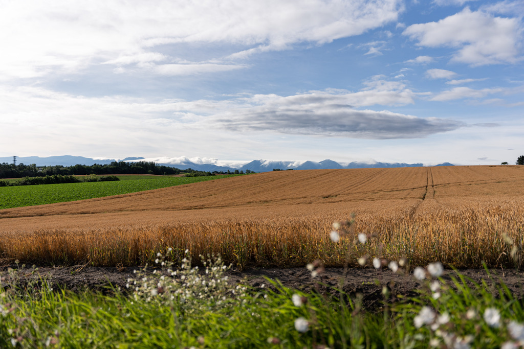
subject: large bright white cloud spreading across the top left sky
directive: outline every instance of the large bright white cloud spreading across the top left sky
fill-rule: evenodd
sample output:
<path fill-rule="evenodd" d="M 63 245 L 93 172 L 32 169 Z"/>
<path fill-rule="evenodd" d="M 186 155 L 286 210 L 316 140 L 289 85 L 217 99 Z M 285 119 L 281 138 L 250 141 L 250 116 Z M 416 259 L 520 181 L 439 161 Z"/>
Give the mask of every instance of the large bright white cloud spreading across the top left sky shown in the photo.
<path fill-rule="evenodd" d="M 180 63 L 158 52 L 166 44 L 217 43 L 242 51 L 323 44 L 395 21 L 401 10 L 400 0 L 3 2 L 0 80 L 77 73 L 101 62 Z"/>

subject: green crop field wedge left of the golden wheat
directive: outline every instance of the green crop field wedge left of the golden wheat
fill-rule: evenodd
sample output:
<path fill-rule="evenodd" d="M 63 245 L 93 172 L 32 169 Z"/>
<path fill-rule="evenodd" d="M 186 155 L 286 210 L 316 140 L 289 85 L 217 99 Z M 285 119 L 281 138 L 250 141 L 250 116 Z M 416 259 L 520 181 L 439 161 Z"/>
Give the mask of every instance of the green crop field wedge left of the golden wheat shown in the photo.
<path fill-rule="evenodd" d="M 53 204 L 103 196 L 143 192 L 144 190 L 171 187 L 211 179 L 237 175 L 220 175 L 204 177 L 170 177 L 170 176 L 118 176 L 121 181 L 88 182 L 65 184 L 42 184 L 15 187 L 0 187 L 0 209 Z M 145 180 L 147 179 L 147 180 Z"/>

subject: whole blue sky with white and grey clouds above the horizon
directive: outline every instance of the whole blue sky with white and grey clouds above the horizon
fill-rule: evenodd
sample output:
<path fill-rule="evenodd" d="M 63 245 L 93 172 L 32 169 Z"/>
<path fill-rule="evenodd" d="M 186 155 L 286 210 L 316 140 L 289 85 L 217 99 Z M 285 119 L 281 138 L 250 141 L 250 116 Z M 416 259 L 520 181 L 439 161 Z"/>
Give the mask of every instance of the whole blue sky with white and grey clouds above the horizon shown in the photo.
<path fill-rule="evenodd" d="M 522 0 L 0 0 L 0 156 L 514 164 Z"/>

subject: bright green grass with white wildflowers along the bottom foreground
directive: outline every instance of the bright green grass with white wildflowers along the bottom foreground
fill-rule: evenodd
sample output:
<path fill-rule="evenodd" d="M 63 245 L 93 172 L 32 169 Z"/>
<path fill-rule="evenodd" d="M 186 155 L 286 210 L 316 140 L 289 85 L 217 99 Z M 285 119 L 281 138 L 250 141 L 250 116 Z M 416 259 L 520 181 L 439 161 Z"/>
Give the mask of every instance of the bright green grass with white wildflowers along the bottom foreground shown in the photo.
<path fill-rule="evenodd" d="M 229 284 L 220 259 L 204 263 L 205 272 L 189 260 L 144 269 L 126 292 L 107 295 L 52 290 L 12 270 L 0 294 L 0 347 L 517 348 L 524 340 L 522 303 L 504 284 L 493 295 L 458 273 L 451 282 L 435 275 L 417 297 L 364 309 L 343 292 Z"/>

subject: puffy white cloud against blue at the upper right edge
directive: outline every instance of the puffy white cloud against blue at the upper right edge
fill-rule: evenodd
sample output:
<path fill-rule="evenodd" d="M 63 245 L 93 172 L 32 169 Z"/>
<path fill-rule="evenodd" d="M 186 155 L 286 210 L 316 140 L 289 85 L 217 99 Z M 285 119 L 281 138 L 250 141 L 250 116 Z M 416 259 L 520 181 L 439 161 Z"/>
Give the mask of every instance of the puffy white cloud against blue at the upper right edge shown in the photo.
<path fill-rule="evenodd" d="M 438 22 L 414 24 L 403 31 L 419 46 L 451 47 L 452 60 L 471 65 L 517 63 L 522 29 L 519 19 L 494 17 L 465 8 Z"/>

